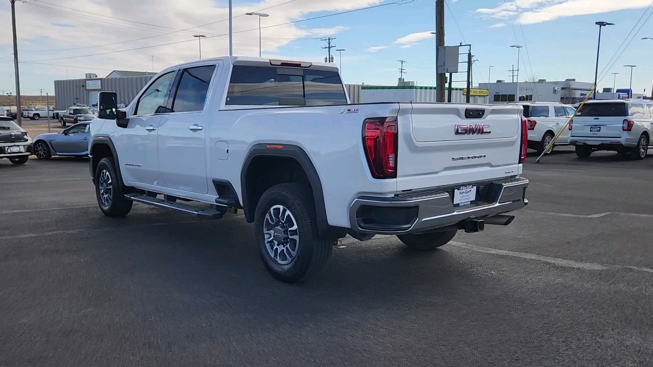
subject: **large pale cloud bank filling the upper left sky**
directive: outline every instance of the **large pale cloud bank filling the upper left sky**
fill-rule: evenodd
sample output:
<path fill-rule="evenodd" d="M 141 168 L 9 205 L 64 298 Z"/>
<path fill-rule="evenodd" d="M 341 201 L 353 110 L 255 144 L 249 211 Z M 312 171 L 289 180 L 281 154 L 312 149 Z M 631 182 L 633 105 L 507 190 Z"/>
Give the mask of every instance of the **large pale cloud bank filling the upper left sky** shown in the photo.
<path fill-rule="evenodd" d="M 22 71 L 38 71 L 39 74 L 58 77 L 67 72 L 65 67 L 29 61 L 70 65 L 71 76 L 73 71 L 76 75 L 94 71 L 108 74 L 113 69 L 150 71 L 150 56 L 154 56 L 154 69 L 159 71 L 197 59 L 198 42 L 193 38 L 197 34 L 207 36 L 202 39 L 202 58 L 228 55 L 229 11 L 225 3 L 215 0 L 160 0 L 157 1 L 156 11 L 152 11 L 152 3 L 147 0 L 68 0 L 56 7 L 48 6 L 58 11 L 36 6 L 38 3 L 33 2 L 17 3 Z M 259 18 L 244 14 L 261 11 L 270 14 L 268 18 L 261 18 L 263 56 L 266 56 L 278 53 L 283 46 L 298 39 L 302 39 L 298 45 L 305 49 L 319 48 L 323 42 L 311 38 L 335 35 L 348 29 L 337 25 L 337 17 L 330 18 L 333 27 L 311 28 L 308 22 L 285 23 L 316 13 L 379 5 L 383 0 L 302 0 L 301 6 L 289 0 L 254 0 L 244 5 L 237 4 L 243 2 L 234 3 L 234 55 L 258 56 Z M 8 3 L 0 3 L 0 18 L 10 18 Z M 56 20 L 56 24 L 42 20 Z M 74 27 L 67 27 L 69 24 Z M 283 25 L 270 27 L 277 24 Z M 7 53 L 10 52 L 11 39 L 11 27 L 0 27 L 0 52 L 5 49 Z M 71 48 L 75 50 L 65 50 Z M 99 55 L 87 56 L 91 54 Z M 62 59 L 71 56 L 85 57 Z M 0 72 L 9 71 L 11 64 L 6 64 L 0 64 Z M 0 88 L 5 88 L 5 85 Z"/>

